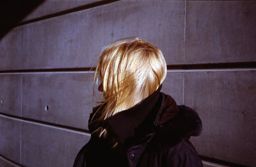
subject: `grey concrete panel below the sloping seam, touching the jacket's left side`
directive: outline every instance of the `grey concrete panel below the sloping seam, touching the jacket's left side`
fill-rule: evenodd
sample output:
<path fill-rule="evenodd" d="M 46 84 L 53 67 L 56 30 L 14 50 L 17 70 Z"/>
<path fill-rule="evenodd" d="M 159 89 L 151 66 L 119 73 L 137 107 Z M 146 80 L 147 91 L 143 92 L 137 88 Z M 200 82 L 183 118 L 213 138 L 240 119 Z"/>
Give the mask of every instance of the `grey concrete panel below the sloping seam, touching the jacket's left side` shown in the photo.
<path fill-rule="evenodd" d="M 90 135 L 22 122 L 21 164 L 70 167 Z"/>

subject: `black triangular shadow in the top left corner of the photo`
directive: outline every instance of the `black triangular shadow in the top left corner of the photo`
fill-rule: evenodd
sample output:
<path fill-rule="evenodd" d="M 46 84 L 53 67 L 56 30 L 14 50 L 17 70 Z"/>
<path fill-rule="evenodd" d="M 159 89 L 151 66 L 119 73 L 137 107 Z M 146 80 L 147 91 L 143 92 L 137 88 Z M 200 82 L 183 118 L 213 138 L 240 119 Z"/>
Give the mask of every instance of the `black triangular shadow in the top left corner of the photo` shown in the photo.
<path fill-rule="evenodd" d="M 45 0 L 3 0 L 0 3 L 0 40 Z"/>

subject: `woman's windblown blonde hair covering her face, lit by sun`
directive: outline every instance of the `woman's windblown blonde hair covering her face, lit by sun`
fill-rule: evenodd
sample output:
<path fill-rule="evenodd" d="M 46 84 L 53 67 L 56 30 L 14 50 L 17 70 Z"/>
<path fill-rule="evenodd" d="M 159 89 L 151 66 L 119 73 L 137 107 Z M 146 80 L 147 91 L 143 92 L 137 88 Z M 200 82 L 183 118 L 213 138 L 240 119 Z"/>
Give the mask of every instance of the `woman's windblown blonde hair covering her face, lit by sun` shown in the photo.
<path fill-rule="evenodd" d="M 99 116 L 90 123 L 100 123 L 94 132 L 106 137 L 104 122 L 154 93 L 166 77 L 166 62 L 157 47 L 139 38 L 117 40 L 100 55 L 94 83 L 96 79 L 102 82 L 104 100 L 96 111 Z"/>

